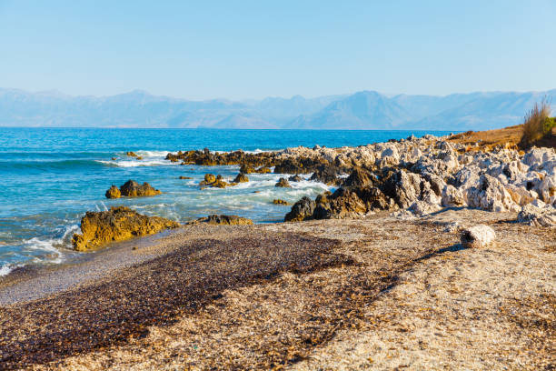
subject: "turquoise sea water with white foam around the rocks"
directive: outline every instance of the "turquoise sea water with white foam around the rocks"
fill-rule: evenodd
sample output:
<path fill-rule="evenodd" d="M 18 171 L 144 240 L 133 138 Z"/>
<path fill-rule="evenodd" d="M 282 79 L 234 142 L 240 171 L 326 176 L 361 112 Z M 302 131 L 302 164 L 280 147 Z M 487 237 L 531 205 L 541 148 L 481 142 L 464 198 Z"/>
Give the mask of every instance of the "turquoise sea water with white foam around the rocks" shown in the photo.
<path fill-rule="evenodd" d="M 197 185 L 205 173 L 231 180 L 238 166 L 177 165 L 164 160 L 168 152 L 205 147 L 223 152 L 367 145 L 412 134 L 427 133 L 0 127 L 0 276 L 15 266 L 55 264 L 78 254 L 71 250 L 70 241 L 87 210 L 125 205 L 180 222 L 218 213 L 267 223 L 282 221 L 290 208 L 273 205 L 274 198 L 295 202 L 329 189 L 309 181 L 293 184 L 291 189 L 276 188 L 281 175 L 270 174 L 249 175 L 251 182 L 232 188 L 200 190 Z M 144 159 L 127 157 L 127 151 Z M 180 180 L 180 175 L 193 179 Z M 164 193 L 116 200 L 104 197 L 111 185 L 121 186 L 128 179 L 149 182 Z"/>

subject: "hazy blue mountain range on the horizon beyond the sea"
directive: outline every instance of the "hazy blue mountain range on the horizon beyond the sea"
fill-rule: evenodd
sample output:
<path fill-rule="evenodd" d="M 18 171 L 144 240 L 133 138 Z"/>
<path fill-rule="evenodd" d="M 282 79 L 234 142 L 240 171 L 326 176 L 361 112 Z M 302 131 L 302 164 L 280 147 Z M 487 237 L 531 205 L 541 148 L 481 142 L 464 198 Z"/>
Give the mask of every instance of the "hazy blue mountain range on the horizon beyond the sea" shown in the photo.
<path fill-rule="evenodd" d="M 141 90 L 71 96 L 0 89 L 0 126 L 479 130 L 519 124 L 547 92 L 189 101 Z M 554 101 L 554 100 L 553 100 Z"/>

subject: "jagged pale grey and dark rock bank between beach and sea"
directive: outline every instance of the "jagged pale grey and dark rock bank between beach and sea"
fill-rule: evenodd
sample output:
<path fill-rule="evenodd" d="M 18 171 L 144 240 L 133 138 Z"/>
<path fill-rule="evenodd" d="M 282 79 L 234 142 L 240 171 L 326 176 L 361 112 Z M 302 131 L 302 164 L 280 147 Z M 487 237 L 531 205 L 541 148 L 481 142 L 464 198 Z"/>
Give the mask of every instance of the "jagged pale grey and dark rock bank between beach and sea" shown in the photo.
<path fill-rule="evenodd" d="M 168 154 L 166 159 L 240 165 L 238 178 L 273 167 L 275 174 L 311 174 L 310 180 L 337 187 L 315 200 L 301 199 L 285 221 L 362 217 L 382 210 L 415 217 L 442 207 L 472 207 L 521 213 L 519 220 L 531 225 L 556 223 L 553 148 L 523 152 L 508 144 L 464 145 L 461 139 L 425 135 L 359 147 L 317 145 L 260 154 L 213 154 L 205 149 Z M 276 186 L 289 186 L 288 179 L 281 178 Z"/>

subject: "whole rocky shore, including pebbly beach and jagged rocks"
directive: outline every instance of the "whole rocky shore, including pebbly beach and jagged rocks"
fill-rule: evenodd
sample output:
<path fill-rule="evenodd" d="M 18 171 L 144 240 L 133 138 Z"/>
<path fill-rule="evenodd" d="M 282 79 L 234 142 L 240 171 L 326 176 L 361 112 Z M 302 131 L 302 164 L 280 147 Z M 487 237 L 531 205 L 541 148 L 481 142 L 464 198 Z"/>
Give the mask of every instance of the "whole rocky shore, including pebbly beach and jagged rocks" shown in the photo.
<path fill-rule="evenodd" d="M 272 225 L 87 213 L 77 249 L 174 232 L 0 284 L 0 369 L 556 367 L 553 148 L 425 135 L 166 159 L 333 192 Z"/>

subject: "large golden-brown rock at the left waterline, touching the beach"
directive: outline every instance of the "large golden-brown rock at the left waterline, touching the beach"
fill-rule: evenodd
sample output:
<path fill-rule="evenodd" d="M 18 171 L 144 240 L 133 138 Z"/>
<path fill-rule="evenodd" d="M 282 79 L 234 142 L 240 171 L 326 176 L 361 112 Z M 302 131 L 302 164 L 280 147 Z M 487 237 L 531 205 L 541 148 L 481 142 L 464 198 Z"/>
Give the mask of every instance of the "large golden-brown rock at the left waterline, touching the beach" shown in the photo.
<path fill-rule="evenodd" d="M 109 211 L 88 211 L 81 219 L 81 235 L 72 239 L 74 249 L 87 251 L 114 241 L 134 236 L 146 236 L 167 228 L 177 228 L 179 223 L 159 216 L 144 216 L 124 207 L 112 207 Z"/>

